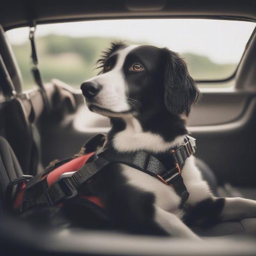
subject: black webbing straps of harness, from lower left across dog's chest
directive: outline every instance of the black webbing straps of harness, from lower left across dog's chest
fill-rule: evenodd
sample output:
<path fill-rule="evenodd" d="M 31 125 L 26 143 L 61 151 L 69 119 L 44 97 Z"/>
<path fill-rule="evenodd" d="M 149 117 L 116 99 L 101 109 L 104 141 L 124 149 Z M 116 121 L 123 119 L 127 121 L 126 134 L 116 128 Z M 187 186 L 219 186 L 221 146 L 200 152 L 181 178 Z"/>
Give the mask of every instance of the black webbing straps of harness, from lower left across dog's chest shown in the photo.
<path fill-rule="evenodd" d="M 90 163 L 85 164 L 76 172 L 64 173 L 45 191 L 34 197 L 29 193 L 24 196 L 28 208 L 35 204 L 53 205 L 64 198 L 72 198 L 77 195 L 77 189 L 81 184 L 93 177 L 109 163 L 124 163 L 154 177 L 158 177 L 164 183 L 174 187 L 176 193 L 181 197 L 181 205 L 188 199 L 189 192 L 183 183 L 181 169 L 187 157 L 195 152 L 195 139 L 187 136 L 184 144 L 176 150 L 170 150 L 168 161 L 156 157 L 145 151 L 130 153 L 118 153 L 113 149 L 106 148 Z M 35 176 L 36 177 L 36 176 Z M 33 179 L 29 181 L 33 183 Z M 29 183 L 27 185 L 29 185 Z"/>

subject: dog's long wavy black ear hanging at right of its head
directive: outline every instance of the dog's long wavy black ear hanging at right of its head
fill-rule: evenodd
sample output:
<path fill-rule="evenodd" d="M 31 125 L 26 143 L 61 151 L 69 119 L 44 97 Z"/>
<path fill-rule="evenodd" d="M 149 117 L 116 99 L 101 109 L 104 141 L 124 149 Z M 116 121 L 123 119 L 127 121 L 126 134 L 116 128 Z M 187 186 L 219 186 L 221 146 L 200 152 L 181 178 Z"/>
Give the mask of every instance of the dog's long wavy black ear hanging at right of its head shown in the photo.
<path fill-rule="evenodd" d="M 168 111 L 189 115 L 190 109 L 200 91 L 195 80 L 189 75 L 185 61 L 179 54 L 164 48 L 166 65 L 164 70 L 164 102 Z"/>

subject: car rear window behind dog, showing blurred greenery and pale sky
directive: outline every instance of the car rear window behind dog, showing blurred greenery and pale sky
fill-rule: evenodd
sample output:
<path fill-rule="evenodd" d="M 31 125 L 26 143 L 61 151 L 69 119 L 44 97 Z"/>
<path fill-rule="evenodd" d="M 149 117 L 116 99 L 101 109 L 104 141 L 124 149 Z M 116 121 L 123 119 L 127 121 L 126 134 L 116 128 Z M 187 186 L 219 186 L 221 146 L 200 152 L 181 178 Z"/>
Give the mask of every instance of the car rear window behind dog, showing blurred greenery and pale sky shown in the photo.
<path fill-rule="evenodd" d="M 169 47 L 182 55 L 194 79 L 220 80 L 236 71 L 254 28 L 255 23 L 234 20 L 95 20 L 38 25 L 36 44 L 46 82 L 57 78 L 79 87 L 96 75 L 101 50 L 118 40 Z M 28 29 L 13 29 L 7 34 L 28 87 L 32 84 Z"/>

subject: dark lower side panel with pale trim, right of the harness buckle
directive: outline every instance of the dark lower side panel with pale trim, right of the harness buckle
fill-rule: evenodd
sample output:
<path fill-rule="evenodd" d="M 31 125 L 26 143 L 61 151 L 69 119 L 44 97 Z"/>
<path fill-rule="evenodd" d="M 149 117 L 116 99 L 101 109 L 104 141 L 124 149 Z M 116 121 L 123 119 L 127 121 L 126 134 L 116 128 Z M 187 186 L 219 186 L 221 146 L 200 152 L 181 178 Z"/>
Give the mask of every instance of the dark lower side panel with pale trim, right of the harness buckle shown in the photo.
<path fill-rule="evenodd" d="M 197 139 L 196 156 L 212 168 L 219 183 L 256 186 L 255 116 L 253 98 L 237 121 L 189 129 Z"/>

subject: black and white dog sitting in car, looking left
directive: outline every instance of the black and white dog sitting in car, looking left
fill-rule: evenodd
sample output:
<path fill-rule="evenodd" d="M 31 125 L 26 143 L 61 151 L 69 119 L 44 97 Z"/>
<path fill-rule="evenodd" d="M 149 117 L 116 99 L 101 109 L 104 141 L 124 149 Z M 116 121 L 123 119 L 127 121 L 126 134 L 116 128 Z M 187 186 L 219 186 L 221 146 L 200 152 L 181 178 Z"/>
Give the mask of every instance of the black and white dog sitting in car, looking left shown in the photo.
<path fill-rule="evenodd" d="M 81 90 L 90 111 L 111 119 L 105 147 L 157 156 L 183 143 L 185 117 L 200 93 L 177 53 L 114 43 L 98 63 L 102 71 Z M 185 223 L 256 216 L 256 201 L 215 198 L 193 156 L 187 158 L 182 177 L 189 198 L 181 209 L 172 186 L 121 163 L 100 173 L 95 191 L 116 225 L 135 232 L 199 239 Z"/>

